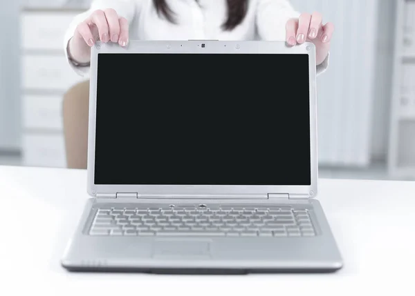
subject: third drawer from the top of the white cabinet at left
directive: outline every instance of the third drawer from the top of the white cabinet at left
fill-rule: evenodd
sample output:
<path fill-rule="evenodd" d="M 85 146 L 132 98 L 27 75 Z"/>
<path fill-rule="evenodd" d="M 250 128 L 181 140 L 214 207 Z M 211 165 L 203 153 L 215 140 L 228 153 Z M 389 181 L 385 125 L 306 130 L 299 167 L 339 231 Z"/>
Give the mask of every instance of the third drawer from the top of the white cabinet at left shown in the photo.
<path fill-rule="evenodd" d="M 28 129 L 62 130 L 62 96 L 25 95 L 23 126 Z"/>

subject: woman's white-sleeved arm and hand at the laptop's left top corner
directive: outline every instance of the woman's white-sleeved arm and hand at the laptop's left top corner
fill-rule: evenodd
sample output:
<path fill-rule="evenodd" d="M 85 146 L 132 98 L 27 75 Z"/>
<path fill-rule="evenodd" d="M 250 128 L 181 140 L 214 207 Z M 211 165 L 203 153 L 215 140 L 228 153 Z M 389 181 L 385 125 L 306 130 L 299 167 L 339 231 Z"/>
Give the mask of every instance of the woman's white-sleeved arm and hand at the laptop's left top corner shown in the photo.
<path fill-rule="evenodd" d="M 73 70 L 81 76 L 88 74 L 91 46 L 98 39 L 118 42 L 121 46 L 127 45 L 128 26 L 135 12 L 136 3 L 133 0 L 94 0 L 89 10 L 78 14 L 69 25 L 64 36 L 64 52 Z M 106 17 L 108 21 L 105 21 Z M 100 21 L 102 18 L 104 21 Z M 103 26 L 104 30 L 109 31 L 105 36 L 99 32 Z M 119 34 L 116 34 L 117 32 L 111 34 L 111 29 L 114 27 L 116 27 L 115 30 Z M 127 27 L 127 32 L 125 30 L 124 33 L 120 32 L 122 27 Z M 86 37 L 88 34 L 91 34 L 90 38 Z"/>

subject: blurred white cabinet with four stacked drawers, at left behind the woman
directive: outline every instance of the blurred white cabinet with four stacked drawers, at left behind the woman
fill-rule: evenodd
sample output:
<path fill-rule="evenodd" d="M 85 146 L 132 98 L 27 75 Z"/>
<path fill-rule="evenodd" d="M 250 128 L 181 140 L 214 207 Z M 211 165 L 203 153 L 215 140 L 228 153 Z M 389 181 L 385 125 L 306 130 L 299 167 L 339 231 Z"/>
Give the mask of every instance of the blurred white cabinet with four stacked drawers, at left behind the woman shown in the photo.
<path fill-rule="evenodd" d="M 21 114 L 24 166 L 65 167 L 62 99 L 83 80 L 68 66 L 63 39 L 82 10 L 28 8 L 21 12 Z"/>

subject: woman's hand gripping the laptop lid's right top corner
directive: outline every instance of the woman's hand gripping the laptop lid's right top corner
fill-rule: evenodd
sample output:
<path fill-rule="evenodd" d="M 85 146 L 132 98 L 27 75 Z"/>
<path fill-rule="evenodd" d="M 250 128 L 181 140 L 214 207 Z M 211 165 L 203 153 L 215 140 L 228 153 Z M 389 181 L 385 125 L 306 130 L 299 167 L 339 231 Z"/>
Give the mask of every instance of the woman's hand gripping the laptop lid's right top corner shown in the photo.
<path fill-rule="evenodd" d="M 286 24 L 286 41 L 289 45 L 295 46 L 306 41 L 315 45 L 315 58 L 317 65 L 326 59 L 330 50 L 330 41 L 333 36 L 333 23 L 323 25 L 322 14 L 303 13 L 299 19 L 290 19 Z"/>

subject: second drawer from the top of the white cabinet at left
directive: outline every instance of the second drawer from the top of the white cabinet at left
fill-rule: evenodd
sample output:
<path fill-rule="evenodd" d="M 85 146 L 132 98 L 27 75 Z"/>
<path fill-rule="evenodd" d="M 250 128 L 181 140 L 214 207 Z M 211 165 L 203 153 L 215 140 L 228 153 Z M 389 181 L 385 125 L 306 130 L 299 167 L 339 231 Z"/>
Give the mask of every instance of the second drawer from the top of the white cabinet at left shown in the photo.
<path fill-rule="evenodd" d="M 68 90 L 85 80 L 68 65 L 64 56 L 25 55 L 22 62 L 23 87 L 33 90 Z"/>

